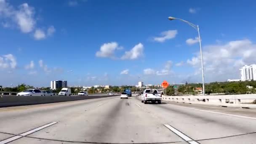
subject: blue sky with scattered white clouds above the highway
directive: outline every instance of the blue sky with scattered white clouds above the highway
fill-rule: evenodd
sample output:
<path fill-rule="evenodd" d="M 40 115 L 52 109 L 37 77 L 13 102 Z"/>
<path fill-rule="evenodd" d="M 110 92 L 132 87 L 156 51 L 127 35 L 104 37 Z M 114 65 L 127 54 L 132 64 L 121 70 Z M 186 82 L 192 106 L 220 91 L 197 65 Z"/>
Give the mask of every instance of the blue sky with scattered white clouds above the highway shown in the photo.
<path fill-rule="evenodd" d="M 0 0 L 0 85 L 200 83 L 256 63 L 255 0 Z"/>

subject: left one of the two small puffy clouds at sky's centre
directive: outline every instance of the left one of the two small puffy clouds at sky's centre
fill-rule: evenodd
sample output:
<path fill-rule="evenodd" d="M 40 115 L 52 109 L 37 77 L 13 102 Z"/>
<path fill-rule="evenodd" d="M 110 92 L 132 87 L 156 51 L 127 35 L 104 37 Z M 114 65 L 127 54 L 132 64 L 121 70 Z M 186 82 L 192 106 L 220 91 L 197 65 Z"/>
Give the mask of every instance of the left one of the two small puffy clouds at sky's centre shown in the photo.
<path fill-rule="evenodd" d="M 115 57 L 115 50 L 118 49 L 118 43 L 111 42 L 111 43 L 104 43 L 101 45 L 100 51 L 96 52 L 97 57 Z"/>

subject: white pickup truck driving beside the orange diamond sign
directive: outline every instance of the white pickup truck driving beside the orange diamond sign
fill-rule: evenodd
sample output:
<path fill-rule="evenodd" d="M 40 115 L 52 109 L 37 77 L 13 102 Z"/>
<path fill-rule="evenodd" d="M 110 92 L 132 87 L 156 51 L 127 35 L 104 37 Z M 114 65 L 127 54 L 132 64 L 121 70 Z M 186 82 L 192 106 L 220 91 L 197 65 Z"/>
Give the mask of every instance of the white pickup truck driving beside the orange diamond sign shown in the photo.
<path fill-rule="evenodd" d="M 161 104 L 162 102 L 162 93 L 158 93 L 156 89 L 145 89 L 143 95 L 141 96 L 141 102 L 147 104 L 149 101 L 157 104 Z"/>

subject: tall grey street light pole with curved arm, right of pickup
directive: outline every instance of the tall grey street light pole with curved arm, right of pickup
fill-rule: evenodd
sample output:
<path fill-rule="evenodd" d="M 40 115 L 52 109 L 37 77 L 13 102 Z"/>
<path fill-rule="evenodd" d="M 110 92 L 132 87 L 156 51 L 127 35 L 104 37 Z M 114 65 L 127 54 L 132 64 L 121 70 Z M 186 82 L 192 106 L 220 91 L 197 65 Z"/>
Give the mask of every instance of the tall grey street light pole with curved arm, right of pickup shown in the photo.
<path fill-rule="evenodd" d="M 184 19 L 179 19 L 179 18 L 174 18 L 174 17 L 168 17 L 169 20 L 174 20 L 178 19 L 180 21 L 183 21 L 187 24 L 189 24 L 191 27 L 193 27 L 195 30 L 198 32 L 198 38 L 199 38 L 199 45 L 200 45 L 200 56 L 201 56 L 201 67 L 202 67 L 202 80 L 203 80 L 203 96 L 205 96 L 205 80 L 204 80 L 204 68 L 203 68 L 203 53 L 202 53 L 202 45 L 201 45 L 201 37 L 200 37 L 200 32 L 199 32 L 199 26 L 192 24 L 189 21 L 185 21 Z"/>

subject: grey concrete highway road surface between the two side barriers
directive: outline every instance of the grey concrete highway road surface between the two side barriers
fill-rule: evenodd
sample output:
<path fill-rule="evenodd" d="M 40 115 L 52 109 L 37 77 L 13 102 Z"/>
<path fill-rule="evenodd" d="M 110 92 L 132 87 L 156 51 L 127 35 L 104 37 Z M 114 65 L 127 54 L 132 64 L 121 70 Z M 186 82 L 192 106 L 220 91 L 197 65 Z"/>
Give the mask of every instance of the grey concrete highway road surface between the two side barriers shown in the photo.
<path fill-rule="evenodd" d="M 0 144 L 256 144 L 256 110 L 119 96 L 0 108 Z"/>

